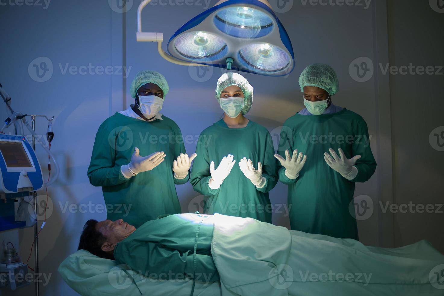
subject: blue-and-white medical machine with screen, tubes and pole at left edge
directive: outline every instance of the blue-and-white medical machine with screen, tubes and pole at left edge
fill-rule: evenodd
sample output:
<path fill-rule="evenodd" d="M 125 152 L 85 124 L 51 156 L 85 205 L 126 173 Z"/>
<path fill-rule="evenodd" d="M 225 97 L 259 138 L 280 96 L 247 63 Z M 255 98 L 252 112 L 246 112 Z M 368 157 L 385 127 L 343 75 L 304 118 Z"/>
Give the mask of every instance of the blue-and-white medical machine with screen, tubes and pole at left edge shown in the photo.
<path fill-rule="evenodd" d="M 36 157 L 36 138 L 38 137 L 35 131 L 36 118 L 44 117 L 48 120 L 47 140 L 49 147 L 54 138 L 52 130 L 52 120 L 45 115 L 22 114 L 15 112 L 10 105 L 11 97 L 4 91 L 0 84 L 0 97 L 3 99 L 7 107 L 8 118 L 4 121 L 4 126 L 0 129 L 0 235 L 7 236 L 12 230 L 15 231 L 13 235 L 17 237 L 18 231 L 13 230 L 17 227 L 27 227 L 33 225 L 34 227 L 34 273 L 38 276 L 39 273 L 39 241 L 38 234 L 44 227 L 45 221 L 38 227 L 36 223 L 37 191 L 44 187 L 50 186 L 59 176 L 59 166 L 51 153 L 49 148 L 43 143 L 40 143 L 43 150 L 45 150 L 52 159 L 55 172 L 51 180 L 44 182 L 42 170 L 39 161 Z M 27 117 L 31 118 L 32 126 L 28 123 Z M 6 128 L 14 124 L 14 134 L 5 134 Z M 21 136 L 25 126 L 32 136 L 32 146 L 28 143 L 24 136 Z M 48 170 L 51 170 L 51 163 L 48 161 Z M 32 203 L 26 201 L 26 198 L 33 197 Z M 20 201 L 20 205 L 16 211 L 16 202 Z M 46 206 L 45 206 L 46 207 Z M 17 218 L 17 221 L 16 221 Z M 25 220 L 25 221 L 23 221 Z M 4 247 L 4 257 L 0 261 L 0 277 L 5 274 L 9 275 L 24 275 L 28 273 L 28 267 L 19 260 L 16 260 L 16 249 L 14 247 Z M 14 260 L 12 260 L 14 259 Z M 1 279 L 0 279 L 1 280 Z M 12 290 L 24 286 L 24 283 L 17 282 L 14 279 L 8 281 L 3 280 L 0 283 L 0 288 L 11 288 Z M 40 295 L 39 281 L 35 281 L 35 295 Z"/>

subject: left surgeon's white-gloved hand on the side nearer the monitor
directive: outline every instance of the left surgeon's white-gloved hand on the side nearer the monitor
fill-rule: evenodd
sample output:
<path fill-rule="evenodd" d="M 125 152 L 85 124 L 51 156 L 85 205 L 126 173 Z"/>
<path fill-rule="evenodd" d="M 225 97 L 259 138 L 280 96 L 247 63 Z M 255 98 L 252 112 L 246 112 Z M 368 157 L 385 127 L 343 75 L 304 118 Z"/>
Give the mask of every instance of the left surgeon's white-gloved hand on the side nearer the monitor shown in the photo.
<path fill-rule="evenodd" d="M 128 163 L 126 166 L 121 166 L 120 170 L 122 170 L 122 174 L 126 178 L 130 178 L 131 176 L 135 176 L 141 172 L 154 169 L 161 162 L 163 162 L 165 156 L 166 155 L 163 151 L 157 151 L 148 156 L 140 156 L 139 148 L 135 147 L 130 163 Z"/>

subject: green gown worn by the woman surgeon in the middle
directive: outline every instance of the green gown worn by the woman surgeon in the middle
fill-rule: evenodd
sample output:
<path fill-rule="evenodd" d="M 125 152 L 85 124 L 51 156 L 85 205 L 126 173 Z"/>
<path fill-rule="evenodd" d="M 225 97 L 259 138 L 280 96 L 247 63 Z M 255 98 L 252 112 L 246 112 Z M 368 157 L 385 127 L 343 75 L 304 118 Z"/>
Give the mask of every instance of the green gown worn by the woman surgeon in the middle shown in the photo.
<path fill-rule="evenodd" d="M 273 208 L 268 192 L 277 183 L 277 165 L 274 158 L 273 141 L 268 130 L 252 121 L 246 127 L 231 129 L 221 119 L 206 128 L 199 136 L 190 183 L 194 190 L 206 196 L 204 212 L 223 215 L 250 217 L 271 223 Z M 222 158 L 234 155 L 236 163 L 218 189 L 211 189 L 210 163 L 217 168 Z M 254 168 L 262 163 L 262 176 L 266 184 L 262 188 L 253 185 L 242 173 L 239 161 L 251 159 Z"/>

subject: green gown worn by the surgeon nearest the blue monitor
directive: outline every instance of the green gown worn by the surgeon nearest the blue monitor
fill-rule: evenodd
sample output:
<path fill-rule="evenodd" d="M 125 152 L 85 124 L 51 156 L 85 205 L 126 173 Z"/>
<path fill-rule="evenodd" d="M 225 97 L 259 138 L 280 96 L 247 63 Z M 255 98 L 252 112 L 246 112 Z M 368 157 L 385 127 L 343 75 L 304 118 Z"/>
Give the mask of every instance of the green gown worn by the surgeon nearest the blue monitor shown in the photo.
<path fill-rule="evenodd" d="M 186 153 L 177 124 L 166 116 L 145 122 L 117 113 L 107 118 L 95 136 L 88 178 L 92 185 L 101 186 L 107 219 L 123 219 L 139 227 L 159 215 L 181 212 L 174 184 L 184 179 L 174 178 L 173 161 Z M 131 161 L 134 148 L 147 156 L 164 151 L 165 160 L 153 170 L 125 178 L 120 166 Z"/>

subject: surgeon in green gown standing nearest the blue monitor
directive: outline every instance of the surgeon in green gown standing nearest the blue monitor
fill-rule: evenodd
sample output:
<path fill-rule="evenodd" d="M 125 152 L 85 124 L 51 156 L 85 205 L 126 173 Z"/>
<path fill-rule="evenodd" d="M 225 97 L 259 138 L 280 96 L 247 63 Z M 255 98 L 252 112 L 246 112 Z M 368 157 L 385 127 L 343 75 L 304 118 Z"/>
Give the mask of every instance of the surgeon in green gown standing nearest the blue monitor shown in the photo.
<path fill-rule="evenodd" d="M 102 187 L 107 219 L 138 227 L 181 207 L 174 184 L 190 178 L 190 163 L 177 124 L 160 113 L 169 87 L 155 71 L 139 72 L 131 83 L 135 104 L 116 112 L 95 136 L 88 178 Z"/>

